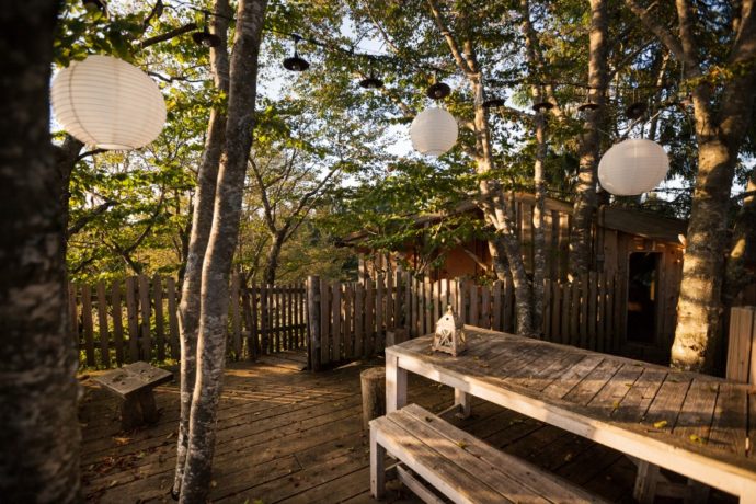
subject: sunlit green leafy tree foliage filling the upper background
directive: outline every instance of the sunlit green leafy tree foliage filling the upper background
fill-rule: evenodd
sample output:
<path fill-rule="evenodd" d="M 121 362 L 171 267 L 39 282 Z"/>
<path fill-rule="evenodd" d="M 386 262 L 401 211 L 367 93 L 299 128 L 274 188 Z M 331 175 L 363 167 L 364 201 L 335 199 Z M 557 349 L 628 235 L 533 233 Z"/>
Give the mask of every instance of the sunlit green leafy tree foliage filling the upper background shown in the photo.
<path fill-rule="evenodd" d="M 185 260 L 191 229 L 194 179 L 204 149 L 213 106 L 226 104 L 208 72 L 206 48 L 184 34 L 141 48 L 140 43 L 187 23 L 202 26 L 194 4 L 167 1 L 159 15 L 153 2 L 110 2 L 108 15 L 88 12 L 79 0 L 67 0 L 56 37 L 58 66 L 88 54 L 112 54 L 149 70 L 160 82 L 168 104 L 168 123 L 160 139 L 141 152 L 98 154 L 79 163 L 71 184 L 70 226 L 85 222 L 70 240 L 69 265 L 80 279 L 123 276 L 140 268 L 176 273 Z M 457 41 L 474 48 L 485 99 L 505 99 L 491 108 L 495 168 L 492 176 L 506 190 L 532 188 L 535 157 L 534 88 L 550 84 L 560 114 L 548 124 L 546 181 L 549 194 L 571 199 L 577 170 L 577 137 L 583 131 L 580 104 L 586 101 L 588 3 L 583 0 L 530 0 L 540 61 L 529 64 L 522 32 L 519 0 L 438 2 Z M 721 83 L 743 68 L 728 65 L 726 48 L 734 32 L 732 5 L 703 0 L 695 31 L 705 41 L 701 57 L 712 82 L 713 100 Z M 651 137 L 669 152 L 674 183 L 643 198 L 614 198 L 612 204 L 642 207 L 686 217 L 696 174 L 696 138 L 681 67 L 644 30 L 622 2 L 609 1 L 610 44 L 606 55 L 611 71 L 607 105 L 600 125 L 602 150 L 632 136 Z M 157 14 L 157 13 L 153 13 Z M 655 15 L 675 26 L 672 2 L 656 2 Z M 147 20 L 149 21 L 147 22 Z M 449 51 L 424 0 L 375 2 L 270 2 L 259 79 L 257 128 L 253 159 L 290 167 L 291 176 L 268 170 L 263 186 L 285 222 L 297 202 L 319 186 L 282 252 L 283 278 L 322 268 L 330 277 L 345 276 L 354 262 L 351 249 L 336 249 L 340 238 L 360 233 L 377 250 L 411 247 L 431 264 L 459 240 L 486 237 L 489 230 L 474 213 L 456 213 L 476 194 L 476 138 L 468 127 L 474 96 Z M 233 23 L 231 23 L 231 33 Z M 291 51 L 287 34 L 303 36 L 299 54 L 311 64 L 302 73 L 282 69 Z M 229 37 L 232 41 L 232 36 Z M 230 42 L 229 42 L 230 44 Z M 364 90 L 357 82 L 375 72 L 382 90 Z M 404 152 L 409 123 L 431 105 L 424 90 L 434 79 L 453 88 L 444 106 L 460 124 L 458 145 L 437 160 Z M 628 105 L 643 102 L 649 114 L 640 122 L 627 117 Z M 754 127 L 743 159 L 753 156 Z M 405 149 L 404 149 L 405 150 Z M 272 165 L 275 167 L 275 162 Z M 736 180 L 751 168 L 743 163 Z M 252 175 L 252 173 L 250 173 Z M 271 229 L 262 213 L 262 188 L 247 181 L 238 264 L 252 278 L 271 244 Z M 104 211 L 103 204 L 112 202 Z M 416 217 L 444 214 L 428 229 Z M 333 261 L 330 259 L 333 257 Z M 309 270 L 308 270 L 309 268 Z"/>

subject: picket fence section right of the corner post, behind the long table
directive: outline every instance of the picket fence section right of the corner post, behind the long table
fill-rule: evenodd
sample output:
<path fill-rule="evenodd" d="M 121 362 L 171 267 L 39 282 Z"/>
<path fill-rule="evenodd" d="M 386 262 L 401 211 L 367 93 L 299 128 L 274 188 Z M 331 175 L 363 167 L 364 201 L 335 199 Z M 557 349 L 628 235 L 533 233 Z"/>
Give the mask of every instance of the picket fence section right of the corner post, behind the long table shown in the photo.
<path fill-rule="evenodd" d="M 545 340 L 599 352 L 618 352 L 619 297 L 615 277 L 602 273 L 576 282 L 545 282 Z M 312 369 L 370 357 L 386 345 L 386 333 L 401 329 L 409 337 L 433 332 L 451 306 L 467 324 L 515 331 L 515 296 L 511 279 L 491 285 L 470 280 L 419 279 L 409 273 L 379 275 L 363 283 L 308 278 Z"/>

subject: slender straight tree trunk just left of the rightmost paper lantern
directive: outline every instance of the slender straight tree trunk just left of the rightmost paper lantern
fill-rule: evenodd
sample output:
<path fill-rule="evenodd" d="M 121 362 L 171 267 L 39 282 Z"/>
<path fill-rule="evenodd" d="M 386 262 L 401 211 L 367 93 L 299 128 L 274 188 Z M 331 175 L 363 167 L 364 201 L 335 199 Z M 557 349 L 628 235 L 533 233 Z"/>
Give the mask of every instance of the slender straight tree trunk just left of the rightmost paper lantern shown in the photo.
<path fill-rule="evenodd" d="M 570 273 L 573 278 L 591 267 L 592 228 L 596 211 L 596 167 L 598 164 L 598 123 L 603 116 L 607 87 L 607 2 L 591 0 L 588 87 L 595 111 L 586 112 L 584 133 L 580 137 L 577 184 L 570 233 Z"/>

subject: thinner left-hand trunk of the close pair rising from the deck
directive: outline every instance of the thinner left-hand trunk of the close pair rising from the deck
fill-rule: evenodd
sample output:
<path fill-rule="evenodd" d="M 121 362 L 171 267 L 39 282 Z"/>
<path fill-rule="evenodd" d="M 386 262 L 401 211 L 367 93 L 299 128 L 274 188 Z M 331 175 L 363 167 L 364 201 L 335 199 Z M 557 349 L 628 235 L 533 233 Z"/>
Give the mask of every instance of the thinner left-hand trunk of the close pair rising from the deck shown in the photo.
<path fill-rule="evenodd" d="M 218 47 L 210 49 L 210 66 L 215 87 L 219 92 L 229 91 L 228 24 L 232 14 L 228 0 L 216 0 L 213 33 L 220 37 Z M 220 107 L 213 107 L 207 126 L 205 152 L 197 173 L 197 188 L 194 193 L 194 214 L 190 237 L 181 302 L 179 305 L 179 330 L 181 341 L 181 413 L 176 443 L 176 469 L 173 480 L 173 496 L 181 493 L 184 465 L 188 449 L 190 411 L 197 367 L 197 333 L 199 330 L 202 270 L 205 252 L 213 227 L 218 165 L 226 139 L 226 114 Z"/>

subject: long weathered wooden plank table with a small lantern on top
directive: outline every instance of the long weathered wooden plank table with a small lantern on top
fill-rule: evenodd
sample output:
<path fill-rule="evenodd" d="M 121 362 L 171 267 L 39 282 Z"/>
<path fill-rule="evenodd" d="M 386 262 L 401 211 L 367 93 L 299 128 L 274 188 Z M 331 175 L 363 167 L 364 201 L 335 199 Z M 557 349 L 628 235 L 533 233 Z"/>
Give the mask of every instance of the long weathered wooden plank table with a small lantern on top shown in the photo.
<path fill-rule="evenodd" d="M 756 396 L 745 385 L 470 325 L 465 331 L 469 348 L 456 358 L 432 352 L 429 335 L 386 348 L 388 412 L 406 403 L 412 371 L 454 387 L 463 408 L 474 396 L 648 462 L 639 476 L 662 467 L 756 503 Z"/>

